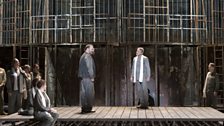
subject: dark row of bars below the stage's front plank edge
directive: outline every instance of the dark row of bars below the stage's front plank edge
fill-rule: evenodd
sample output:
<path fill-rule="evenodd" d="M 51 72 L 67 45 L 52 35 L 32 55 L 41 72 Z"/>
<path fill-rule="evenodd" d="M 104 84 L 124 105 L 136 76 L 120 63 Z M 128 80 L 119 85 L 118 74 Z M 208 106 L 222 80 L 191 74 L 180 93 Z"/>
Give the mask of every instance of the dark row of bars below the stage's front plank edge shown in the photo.
<path fill-rule="evenodd" d="M 38 126 L 38 122 L 15 122 L 16 126 Z M 221 122 L 206 121 L 57 121 L 55 126 L 222 126 Z"/>

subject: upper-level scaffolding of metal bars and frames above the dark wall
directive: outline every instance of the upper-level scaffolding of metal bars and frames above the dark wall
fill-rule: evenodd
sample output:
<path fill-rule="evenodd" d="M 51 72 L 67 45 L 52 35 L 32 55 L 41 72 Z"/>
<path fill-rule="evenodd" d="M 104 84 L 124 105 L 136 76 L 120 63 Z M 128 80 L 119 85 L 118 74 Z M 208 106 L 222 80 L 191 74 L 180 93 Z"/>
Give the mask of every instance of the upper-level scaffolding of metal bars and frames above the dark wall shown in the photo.
<path fill-rule="evenodd" d="M 1 7 L 3 45 L 223 43 L 223 0 L 3 0 Z"/>

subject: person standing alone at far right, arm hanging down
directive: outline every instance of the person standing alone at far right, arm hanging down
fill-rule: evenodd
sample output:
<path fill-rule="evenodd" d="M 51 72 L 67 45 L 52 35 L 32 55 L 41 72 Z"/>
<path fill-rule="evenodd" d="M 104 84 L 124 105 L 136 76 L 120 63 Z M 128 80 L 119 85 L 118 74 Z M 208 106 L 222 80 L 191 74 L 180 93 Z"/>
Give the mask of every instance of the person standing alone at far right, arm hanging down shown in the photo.
<path fill-rule="evenodd" d="M 206 98 L 206 106 L 216 107 L 216 96 L 219 89 L 219 79 L 215 72 L 215 64 L 209 63 L 208 73 L 203 88 L 203 98 Z"/>

